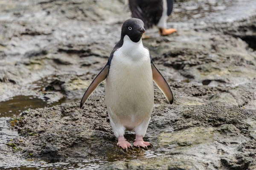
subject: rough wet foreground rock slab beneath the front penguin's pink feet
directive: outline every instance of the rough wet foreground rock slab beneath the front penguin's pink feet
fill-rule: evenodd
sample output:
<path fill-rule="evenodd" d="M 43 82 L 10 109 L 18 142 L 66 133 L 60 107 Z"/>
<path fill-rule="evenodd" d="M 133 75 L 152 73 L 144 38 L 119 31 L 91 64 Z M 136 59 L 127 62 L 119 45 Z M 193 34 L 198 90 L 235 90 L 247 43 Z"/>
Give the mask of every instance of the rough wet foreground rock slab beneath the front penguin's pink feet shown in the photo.
<path fill-rule="evenodd" d="M 108 161 L 101 169 L 120 169 L 120 164 L 125 169 L 253 169 L 255 165 L 255 110 L 156 103 L 145 136 L 154 147 L 125 153 L 116 146 L 104 97 L 92 98 L 84 109 L 77 105 L 23 112 L 23 119 L 15 123 L 20 136 L 12 143 L 27 159 L 32 154 L 48 161 Z M 133 142 L 135 135 L 126 137 Z"/>

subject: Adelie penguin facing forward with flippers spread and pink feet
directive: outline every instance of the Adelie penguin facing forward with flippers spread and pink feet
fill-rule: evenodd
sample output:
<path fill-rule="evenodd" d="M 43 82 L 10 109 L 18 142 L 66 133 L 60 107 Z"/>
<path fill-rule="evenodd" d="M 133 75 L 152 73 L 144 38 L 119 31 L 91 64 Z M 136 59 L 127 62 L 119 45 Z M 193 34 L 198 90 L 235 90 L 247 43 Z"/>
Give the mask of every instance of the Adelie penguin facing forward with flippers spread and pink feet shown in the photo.
<path fill-rule="evenodd" d="M 113 133 L 118 138 L 117 145 L 124 150 L 132 149 L 126 141 L 125 130 L 136 134 L 133 145 L 148 149 L 151 143 L 143 137 L 148 128 L 154 108 L 154 83 L 160 88 L 170 104 L 173 102 L 172 91 L 152 62 L 148 48 L 142 43 L 145 33 L 144 23 L 131 18 L 122 25 L 121 39 L 110 54 L 107 64 L 96 76 L 84 96 L 80 107 L 106 79 L 105 101 Z"/>

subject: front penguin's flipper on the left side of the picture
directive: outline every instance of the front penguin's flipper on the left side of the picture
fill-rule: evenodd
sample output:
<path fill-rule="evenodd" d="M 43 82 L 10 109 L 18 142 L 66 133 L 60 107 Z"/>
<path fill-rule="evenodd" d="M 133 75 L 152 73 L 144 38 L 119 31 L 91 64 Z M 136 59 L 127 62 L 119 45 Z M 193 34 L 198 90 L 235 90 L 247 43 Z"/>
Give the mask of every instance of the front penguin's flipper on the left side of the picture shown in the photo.
<path fill-rule="evenodd" d="M 102 69 L 102 71 L 100 71 L 99 74 L 95 77 L 93 82 L 89 85 L 89 87 L 87 88 L 87 90 L 84 93 L 84 96 L 81 99 L 80 108 L 83 107 L 84 103 L 87 101 L 87 99 L 93 93 L 93 91 L 98 87 L 98 85 L 107 78 L 108 70 L 109 70 L 109 65 L 107 64 Z"/>

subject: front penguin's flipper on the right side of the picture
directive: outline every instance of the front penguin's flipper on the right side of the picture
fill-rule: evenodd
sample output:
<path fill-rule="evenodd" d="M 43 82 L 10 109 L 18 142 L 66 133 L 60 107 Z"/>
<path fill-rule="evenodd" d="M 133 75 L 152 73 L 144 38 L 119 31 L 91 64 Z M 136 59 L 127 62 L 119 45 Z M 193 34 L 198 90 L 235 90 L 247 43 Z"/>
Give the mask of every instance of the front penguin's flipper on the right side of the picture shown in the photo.
<path fill-rule="evenodd" d="M 173 94 L 170 86 L 168 85 L 166 80 L 163 78 L 162 74 L 157 70 L 153 62 L 151 62 L 151 69 L 152 69 L 154 82 L 157 84 L 158 88 L 160 88 L 160 90 L 166 96 L 166 99 L 168 100 L 168 102 L 172 104 Z"/>

